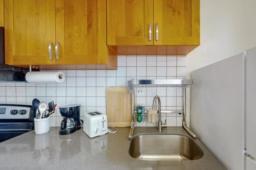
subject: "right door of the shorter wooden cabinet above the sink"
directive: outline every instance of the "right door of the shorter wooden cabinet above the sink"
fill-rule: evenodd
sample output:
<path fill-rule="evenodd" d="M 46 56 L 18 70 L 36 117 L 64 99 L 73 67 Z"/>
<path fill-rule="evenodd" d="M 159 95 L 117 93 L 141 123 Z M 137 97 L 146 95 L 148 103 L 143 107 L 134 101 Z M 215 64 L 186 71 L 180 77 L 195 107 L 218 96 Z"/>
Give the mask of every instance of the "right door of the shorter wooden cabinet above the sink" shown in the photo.
<path fill-rule="evenodd" d="M 154 31 L 155 45 L 199 45 L 200 1 L 154 0 Z"/>

